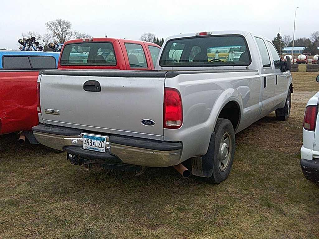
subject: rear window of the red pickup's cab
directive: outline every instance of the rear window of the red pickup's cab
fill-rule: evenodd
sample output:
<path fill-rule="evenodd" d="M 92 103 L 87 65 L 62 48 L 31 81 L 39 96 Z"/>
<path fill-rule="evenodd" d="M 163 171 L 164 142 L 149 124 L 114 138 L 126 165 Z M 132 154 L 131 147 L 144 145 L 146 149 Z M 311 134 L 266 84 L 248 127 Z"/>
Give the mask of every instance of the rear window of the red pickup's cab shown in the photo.
<path fill-rule="evenodd" d="M 64 46 L 60 65 L 115 66 L 112 43 L 84 42 Z"/>

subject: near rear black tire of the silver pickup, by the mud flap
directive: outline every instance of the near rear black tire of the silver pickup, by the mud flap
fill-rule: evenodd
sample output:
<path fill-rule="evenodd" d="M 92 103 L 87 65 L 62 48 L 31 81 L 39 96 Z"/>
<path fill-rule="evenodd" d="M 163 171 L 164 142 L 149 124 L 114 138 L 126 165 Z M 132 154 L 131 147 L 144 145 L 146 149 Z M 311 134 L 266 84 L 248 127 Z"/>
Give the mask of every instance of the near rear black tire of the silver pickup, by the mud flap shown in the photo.
<path fill-rule="evenodd" d="M 235 156 L 235 132 L 232 123 L 226 119 L 217 119 L 216 126 L 214 129 L 215 143 L 210 144 L 207 153 L 202 157 L 203 160 L 213 160 L 213 173 L 211 177 L 205 178 L 206 181 L 214 184 L 219 184 L 224 181 L 232 168 L 234 156 Z M 221 148 L 222 141 L 225 139 L 225 135 L 229 138 L 229 145 L 227 144 L 227 155 L 229 156 L 228 161 L 222 164 L 220 160 L 222 158 Z M 225 150 L 226 147 L 224 147 Z M 224 151 L 226 152 L 226 151 Z"/>

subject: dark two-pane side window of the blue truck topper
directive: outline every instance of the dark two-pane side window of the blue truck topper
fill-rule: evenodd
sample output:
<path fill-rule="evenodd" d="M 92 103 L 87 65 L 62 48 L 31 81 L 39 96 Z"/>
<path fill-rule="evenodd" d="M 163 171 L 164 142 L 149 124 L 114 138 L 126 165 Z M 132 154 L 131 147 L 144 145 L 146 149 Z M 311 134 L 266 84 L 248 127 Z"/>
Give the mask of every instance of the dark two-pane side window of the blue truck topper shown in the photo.
<path fill-rule="evenodd" d="M 14 69 L 31 69 L 44 68 L 55 69 L 56 59 L 53 56 L 37 56 L 37 55 L 4 55 L 2 59 L 3 68 Z"/>

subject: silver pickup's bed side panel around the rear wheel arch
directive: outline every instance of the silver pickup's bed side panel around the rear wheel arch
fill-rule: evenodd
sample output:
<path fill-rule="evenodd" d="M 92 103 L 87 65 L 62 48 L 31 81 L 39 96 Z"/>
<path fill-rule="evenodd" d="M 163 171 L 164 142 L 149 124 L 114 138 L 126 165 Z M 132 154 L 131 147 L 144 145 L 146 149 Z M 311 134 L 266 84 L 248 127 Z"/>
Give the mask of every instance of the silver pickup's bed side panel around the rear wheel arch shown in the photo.
<path fill-rule="evenodd" d="M 182 96 L 182 127 L 164 129 L 165 141 L 182 141 L 181 161 L 207 152 L 216 120 L 226 103 L 235 101 L 241 108 L 237 132 L 258 120 L 258 71 L 178 75 L 166 78 L 165 87 L 177 88 Z"/>

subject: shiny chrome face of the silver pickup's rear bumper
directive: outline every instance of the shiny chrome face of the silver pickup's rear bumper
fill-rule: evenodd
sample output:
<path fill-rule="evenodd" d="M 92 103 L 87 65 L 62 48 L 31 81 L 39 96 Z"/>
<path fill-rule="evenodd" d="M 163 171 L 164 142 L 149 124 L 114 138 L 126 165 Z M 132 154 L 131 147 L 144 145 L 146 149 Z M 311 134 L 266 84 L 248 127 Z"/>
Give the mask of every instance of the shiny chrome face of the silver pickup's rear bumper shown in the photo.
<path fill-rule="evenodd" d="M 65 149 L 67 147 L 83 145 L 82 133 L 80 135 L 58 135 L 37 132 L 33 129 L 33 135 L 41 144 L 62 151 L 66 151 Z M 165 144 L 165 142 L 159 141 L 159 150 L 156 149 L 156 142 L 154 141 L 152 141 L 152 147 L 143 148 L 144 146 L 141 147 L 143 145 L 143 139 L 139 139 L 139 143 L 137 144 L 139 147 L 135 147 L 132 146 L 132 144 L 128 145 L 130 144 L 128 143 L 130 140 L 128 138 L 125 138 L 123 144 L 121 144 L 121 141 L 118 139 L 114 140 L 116 143 L 112 142 L 112 136 L 106 137 L 107 143 L 109 143 L 109 149 L 105 153 L 99 153 L 101 157 L 103 157 L 103 154 L 105 154 L 105 156 L 113 155 L 118 157 L 123 163 L 147 167 L 168 167 L 181 163 L 182 144 L 180 142 L 175 143 L 176 147 L 172 147 L 172 144 L 174 143 L 167 142 L 170 147 L 165 148 L 165 146 L 163 147 L 163 143 Z M 148 143 L 149 141 L 145 140 L 145 146 Z M 91 152 L 88 150 L 82 151 L 85 151 L 86 155 Z M 95 155 L 96 152 L 92 152 L 92 158 Z"/>

